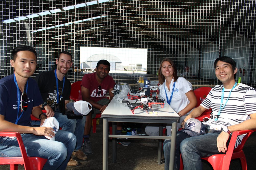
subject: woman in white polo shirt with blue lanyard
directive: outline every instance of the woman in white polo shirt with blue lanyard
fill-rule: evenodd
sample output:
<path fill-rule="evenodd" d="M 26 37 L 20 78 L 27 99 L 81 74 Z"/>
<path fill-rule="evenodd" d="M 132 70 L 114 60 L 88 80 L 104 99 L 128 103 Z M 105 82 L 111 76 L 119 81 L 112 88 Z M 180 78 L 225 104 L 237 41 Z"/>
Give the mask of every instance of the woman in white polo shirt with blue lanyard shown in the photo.
<path fill-rule="evenodd" d="M 158 74 L 158 80 L 161 84 L 161 86 L 159 86 L 160 96 L 180 116 L 177 129 L 181 128 L 180 124 L 182 121 L 197 105 L 196 96 L 192 90 L 192 84 L 185 78 L 177 76 L 177 68 L 174 62 L 169 58 L 161 62 Z M 166 125 L 167 135 L 170 135 L 172 133 L 172 126 L 168 125 L 169 124 Z M 145 132 L 149 136 L 158 136 L 159 127 L 154 124 L 149 124 L 145 128 Z"/>

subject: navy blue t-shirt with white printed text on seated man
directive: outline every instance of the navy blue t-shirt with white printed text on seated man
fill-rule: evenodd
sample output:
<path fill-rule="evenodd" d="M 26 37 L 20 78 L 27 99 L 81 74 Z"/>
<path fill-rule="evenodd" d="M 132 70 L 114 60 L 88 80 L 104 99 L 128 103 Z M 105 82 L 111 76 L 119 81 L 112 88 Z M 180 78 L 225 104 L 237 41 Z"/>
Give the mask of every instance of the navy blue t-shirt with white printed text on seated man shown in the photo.
<path fill-rule="evenodd" d="M 18 125 L 30 126 L 30 114 L 34 106 L 39 106 L 43 103 L 39 88 L 37 83 L 32 78 L 28 78 L 28 91 L 26 92 L 26 85 L 24 88 L 24 92 L 26 92 L 28 97 L 28 107 L 27 110 L 24 111 L 23 115 L 20 117 L 18 121 Z M 22 92 L 19 91 L 21 97 Z M 20 111 L 21 101 L 19 104 L 19 114 L 20 116 L 22 112 Z M 5 120 L 15 123 L 17 119 L 17 87 L 14 83 L 14 74 L 10 76 L 6 76 L 0 79 L 0 114 L 4 115 Z"/>

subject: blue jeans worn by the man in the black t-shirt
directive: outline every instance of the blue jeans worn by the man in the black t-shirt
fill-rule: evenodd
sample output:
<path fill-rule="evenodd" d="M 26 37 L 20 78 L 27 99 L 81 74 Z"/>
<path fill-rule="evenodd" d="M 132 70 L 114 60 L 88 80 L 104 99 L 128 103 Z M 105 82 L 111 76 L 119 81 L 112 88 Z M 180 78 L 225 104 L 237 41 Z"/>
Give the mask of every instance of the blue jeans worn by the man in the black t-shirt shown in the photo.
<path fill-rule="evenodd" d="M 83 131 L 86 121 L 86 116 L 83 116 L 82 119 L 68 119 L 66 115 L 62 113 L 55 112 L 54 117 L 58 120 L 62 130 L 73 133 L 77 138 L 75 150 L 79 150 L 83 144 Z M 40 125 L 40 121 L 31 121 L 31 125 Z"/>

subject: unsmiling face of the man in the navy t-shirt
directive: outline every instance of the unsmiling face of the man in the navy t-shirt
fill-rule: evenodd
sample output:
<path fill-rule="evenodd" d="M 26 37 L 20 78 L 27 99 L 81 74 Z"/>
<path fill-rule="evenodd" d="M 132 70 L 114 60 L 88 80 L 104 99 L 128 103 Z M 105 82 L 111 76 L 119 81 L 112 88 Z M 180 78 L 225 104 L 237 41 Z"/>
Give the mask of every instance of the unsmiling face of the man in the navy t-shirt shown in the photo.
<path fill-rule="evenodd" d="M 19 51 L 17 57 L 11 60 L 16 78 L 29 78 L 36 70 L 36 55 L 31 51 Z"/>

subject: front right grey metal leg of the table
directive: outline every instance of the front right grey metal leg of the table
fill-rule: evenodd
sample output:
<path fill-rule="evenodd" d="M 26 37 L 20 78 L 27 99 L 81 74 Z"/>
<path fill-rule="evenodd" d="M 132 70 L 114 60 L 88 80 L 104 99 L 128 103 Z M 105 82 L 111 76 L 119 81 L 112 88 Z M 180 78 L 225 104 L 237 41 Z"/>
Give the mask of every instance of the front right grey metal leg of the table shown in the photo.
<path fill-rule="evenodd" d="M 176 135 L 177 135 L 177 121 L 172 123 L 172 140 L 171 140 L 169 170 L 172 170 L 174 168 L 174 157 L 175 157 L 175 148 L 176 148 Z"/>

